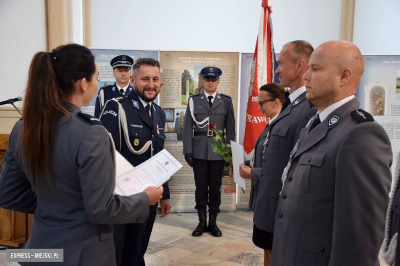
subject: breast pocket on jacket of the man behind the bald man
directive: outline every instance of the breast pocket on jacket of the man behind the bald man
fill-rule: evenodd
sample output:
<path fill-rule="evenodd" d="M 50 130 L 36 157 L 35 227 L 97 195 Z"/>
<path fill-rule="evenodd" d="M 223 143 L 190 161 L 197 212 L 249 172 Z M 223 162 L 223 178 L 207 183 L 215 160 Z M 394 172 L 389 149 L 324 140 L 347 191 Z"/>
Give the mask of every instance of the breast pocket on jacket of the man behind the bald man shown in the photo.
<path fill-rule="evenodd" d="M 271 136 L 268 146 L 271 152 L 287 154 L 290 152 L 290 143 L 287 138 L 289 124 L 277 124 L 271 129 Z"/>

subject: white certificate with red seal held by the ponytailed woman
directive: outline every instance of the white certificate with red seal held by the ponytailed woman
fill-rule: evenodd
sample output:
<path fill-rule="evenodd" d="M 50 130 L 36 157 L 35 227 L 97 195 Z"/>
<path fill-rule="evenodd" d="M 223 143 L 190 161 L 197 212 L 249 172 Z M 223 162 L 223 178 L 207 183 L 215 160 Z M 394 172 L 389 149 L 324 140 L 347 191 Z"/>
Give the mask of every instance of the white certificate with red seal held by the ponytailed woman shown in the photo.
<path fill-rule="evenodd" d="M 147 187 L 159 187 L 181 168 L 182 164 L 163 149 L 146 162 L 117 176 L 115 193 L 129 196 L 143 192 Z"/>

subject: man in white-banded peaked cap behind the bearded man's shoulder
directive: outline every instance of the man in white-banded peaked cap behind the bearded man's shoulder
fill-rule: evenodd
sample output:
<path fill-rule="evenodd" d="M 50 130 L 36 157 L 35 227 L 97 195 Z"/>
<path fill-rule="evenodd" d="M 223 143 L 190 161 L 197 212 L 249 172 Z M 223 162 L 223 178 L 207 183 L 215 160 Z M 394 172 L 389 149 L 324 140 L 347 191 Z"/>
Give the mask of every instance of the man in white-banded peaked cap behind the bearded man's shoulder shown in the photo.
<path fill-rule="evenodd" d="M 98 90 L 96 104 L 94 107 L 94 116 L 98 118 L 104 104 L 114 97 L 122 96 L 132 90 L 129 84 L 133 59 L 127 55 L 118 55 L 111 62 L 112 74 L 115 77 L 115 83 L 112 85 L 103 86 Z"/>

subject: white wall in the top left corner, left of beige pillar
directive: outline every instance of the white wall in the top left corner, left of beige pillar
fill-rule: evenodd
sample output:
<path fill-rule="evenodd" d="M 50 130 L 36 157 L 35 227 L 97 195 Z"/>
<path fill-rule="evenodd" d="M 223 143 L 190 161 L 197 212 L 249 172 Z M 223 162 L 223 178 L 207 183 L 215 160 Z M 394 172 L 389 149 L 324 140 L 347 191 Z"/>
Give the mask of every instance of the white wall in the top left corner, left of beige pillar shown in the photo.
<path fill-rule="evenodd" d="M 1 0 L 0 39 L 0 101 L 24 97 L 32 57 L 46 49 L 44 0 Z"/>

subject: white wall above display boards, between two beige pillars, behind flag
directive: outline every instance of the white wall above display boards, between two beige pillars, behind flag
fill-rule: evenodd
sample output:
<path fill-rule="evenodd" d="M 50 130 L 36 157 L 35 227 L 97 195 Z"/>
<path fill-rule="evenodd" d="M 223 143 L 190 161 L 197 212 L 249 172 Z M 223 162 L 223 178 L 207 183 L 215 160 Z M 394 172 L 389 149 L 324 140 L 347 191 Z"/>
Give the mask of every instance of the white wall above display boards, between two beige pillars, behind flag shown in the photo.
<path fill-rule="evenodd" d="M 254 51 L 261 3 L 92 0 L 91 43 L 109 49 Z M 315 47 L 339 39 L 342 1 L 273 0 L 273 4 L 276 52 L 291 40 L 305 39 Z"/>

